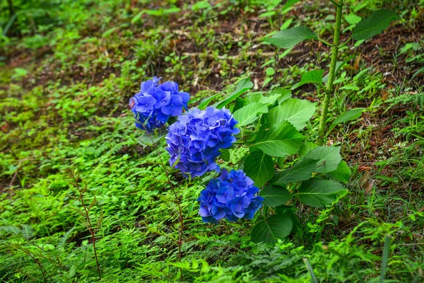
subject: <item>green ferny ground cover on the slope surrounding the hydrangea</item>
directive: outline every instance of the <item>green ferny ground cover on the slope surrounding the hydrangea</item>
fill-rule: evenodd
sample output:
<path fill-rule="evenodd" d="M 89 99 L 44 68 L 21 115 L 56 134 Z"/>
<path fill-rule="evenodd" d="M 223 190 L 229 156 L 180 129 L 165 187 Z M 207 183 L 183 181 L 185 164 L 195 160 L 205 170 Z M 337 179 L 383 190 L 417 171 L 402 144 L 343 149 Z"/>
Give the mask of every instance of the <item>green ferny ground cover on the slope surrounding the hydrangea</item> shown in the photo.
<path fill-rule="evenodd" d="M 326 140 L 352 169 L 348 194 L 325 209 L 300 207 L 303 229 L 266 246 L 250 241 L 252 221 L 201 222 L 196 199 L 208 178 L 188 181 L 167 167 L 184 216 L 181 262 L 175 196 L 156 151 L 137 141 L 128 99 L 153 75 L 197 100 L 246 75 L 255 91 L 292 86 L 326 68 L 329 50 L 305 42 L 279 58 L 262 39 L 299 23 L 331 37 L 329 2 L 283 12 L 280 1 L 265 0 L 13 2 L 30 16 L 0 37 L 2 282 L 99 280 L 83 207 L 64 173 L 71 166 L 87 183 L 84 201 L 96 200 L 90 221 L 99 227 L 103 282 L 175 282 L 181 270 L 187 282 L 423 281 L 423 50 L 404 48 L 423 42 L 423 1 L 348 1 L 347 13 L 401 15 L 382 35 L 341 50 L 353 59 L 338 73 L 329 122 L 365 108 Z M 6 1 L 0 11 L 4 27 Z M 295 95 L 323 98 L 308 85 Z M 318 120 L 308 125 L 312 136 Z M 158 147 L 167 161 L 165 141 Z M 223 166 L 244 156 L 240 149 Z"/>

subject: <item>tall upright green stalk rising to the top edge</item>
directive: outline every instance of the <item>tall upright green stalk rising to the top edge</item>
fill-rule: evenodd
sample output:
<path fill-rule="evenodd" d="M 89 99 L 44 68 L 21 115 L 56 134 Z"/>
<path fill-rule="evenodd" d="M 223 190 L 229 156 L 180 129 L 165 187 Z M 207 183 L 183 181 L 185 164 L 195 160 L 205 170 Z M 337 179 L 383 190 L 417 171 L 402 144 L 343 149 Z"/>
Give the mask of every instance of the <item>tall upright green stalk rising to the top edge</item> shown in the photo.
<path fill-rule="evenodd" d="M 336 27 L 334 28 L 333 49 L 331 50 L 331 62 L 329 71 L 329 81 L 326 84 L 324 105 L 322 106 L 321 119 L 319 120 L 319 136 L 324 137 L 324 130 L 326 129 L 326 116 L 329 111 L 330 96 L 333 92 L 334 74 L 336 73 L 336 63 L 338 54 L 338 44 L 340 43 L 340 26 L 341 26 L 341 11 L 343 0 L 339 1 L 336 5 Z"/>

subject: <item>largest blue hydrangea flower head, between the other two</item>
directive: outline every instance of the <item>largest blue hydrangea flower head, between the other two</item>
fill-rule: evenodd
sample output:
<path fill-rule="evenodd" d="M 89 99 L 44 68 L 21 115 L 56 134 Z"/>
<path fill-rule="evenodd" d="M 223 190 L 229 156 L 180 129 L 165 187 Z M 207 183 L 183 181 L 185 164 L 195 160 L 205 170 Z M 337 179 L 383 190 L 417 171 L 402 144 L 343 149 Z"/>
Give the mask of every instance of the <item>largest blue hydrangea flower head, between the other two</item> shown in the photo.
<path fill-rule="evenodd" d="M 180 115 L 166 136 L 170 165 L 192 178 L 208 171 L 219 172 L 215 158 L 220 155 L 220 149 L 227 149 L 235 142 L 234 135 L 240 132 L 236 124 L 237 120 L 225 108 L 192 108 L 187 115 Z"/>

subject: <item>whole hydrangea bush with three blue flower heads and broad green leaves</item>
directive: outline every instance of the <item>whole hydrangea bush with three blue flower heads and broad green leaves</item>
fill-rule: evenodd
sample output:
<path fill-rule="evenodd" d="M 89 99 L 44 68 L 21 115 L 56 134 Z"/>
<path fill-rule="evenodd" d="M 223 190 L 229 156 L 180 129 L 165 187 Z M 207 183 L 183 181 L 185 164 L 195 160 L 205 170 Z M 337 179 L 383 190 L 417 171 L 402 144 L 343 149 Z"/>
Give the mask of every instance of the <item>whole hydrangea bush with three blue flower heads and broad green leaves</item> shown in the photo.
<path fill-rule="evenodd" d="M 291 98 L 288 88 L 248 93 L 253 83 L 242 79 L 235 91 L 213 107 L 208 105 L 217 95 L 187 110 L 189 94 L 179 92 L 177 83 L 158 81 L 154 77 L 141 83 L 141 91 L 129 106 L 137 127 L 145 129 L 148 137 L 155 136 L 153 143 L 162 137 L 157 129 L 169 124 L 165 140 L 170 166 L 184 177 L 220 172 L 199 192 L 203 221 L 252 220 L 266 207 L 262 216 L 256 217 L 252 241 L 275 243 L 298 223 L 293 221 L 295 207 L 284 204 L 324 207 L 346 193 L 342 183 L 348 182 L 351 172 L 340 149 L 317 146 L 301 133 L 316 110 L 309 100 Z M 249 153 L 237 164 L 227 163 L 235 167 L 230 172 L 221 171 L 217 162 L 223 163 L 222 153 L 226 152 L 228 161 L 228 154 L 237 146 L 249 148 Z M 285 160 L 293 159 L 298 160 L 293 166 L 285 165 Z"/>

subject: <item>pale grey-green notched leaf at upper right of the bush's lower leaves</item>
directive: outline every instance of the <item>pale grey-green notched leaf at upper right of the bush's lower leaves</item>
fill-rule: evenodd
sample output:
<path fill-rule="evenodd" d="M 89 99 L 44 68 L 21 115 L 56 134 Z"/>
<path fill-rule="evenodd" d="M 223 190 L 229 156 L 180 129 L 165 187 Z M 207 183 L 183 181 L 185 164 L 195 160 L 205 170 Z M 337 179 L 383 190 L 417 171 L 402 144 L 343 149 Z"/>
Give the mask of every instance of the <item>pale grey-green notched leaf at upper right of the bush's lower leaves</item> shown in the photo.
<path fill-rule="evenodd" d="M 318 146 L 308 152 L 306 158 L 319 160 L 317 173 L 329 173 L 335 171 L 341 162 L 340 146 Z"/>

